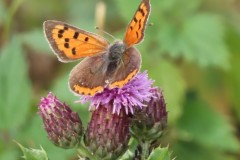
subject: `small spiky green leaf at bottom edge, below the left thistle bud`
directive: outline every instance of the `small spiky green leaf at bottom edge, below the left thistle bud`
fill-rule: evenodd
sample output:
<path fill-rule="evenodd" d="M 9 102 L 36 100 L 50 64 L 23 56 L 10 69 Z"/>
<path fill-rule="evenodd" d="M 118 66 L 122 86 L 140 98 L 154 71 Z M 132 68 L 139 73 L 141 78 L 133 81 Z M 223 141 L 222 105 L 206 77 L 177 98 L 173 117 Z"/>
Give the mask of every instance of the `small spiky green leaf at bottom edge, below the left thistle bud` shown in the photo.
<path fill-rule="evenodd" d="M 23 158 L 26 160 L 48 160 L 47 153 L 43 148 L 41 149 L 29 149 L 23 147 L 20 143 L 16 142 L 23 152 Z"/>

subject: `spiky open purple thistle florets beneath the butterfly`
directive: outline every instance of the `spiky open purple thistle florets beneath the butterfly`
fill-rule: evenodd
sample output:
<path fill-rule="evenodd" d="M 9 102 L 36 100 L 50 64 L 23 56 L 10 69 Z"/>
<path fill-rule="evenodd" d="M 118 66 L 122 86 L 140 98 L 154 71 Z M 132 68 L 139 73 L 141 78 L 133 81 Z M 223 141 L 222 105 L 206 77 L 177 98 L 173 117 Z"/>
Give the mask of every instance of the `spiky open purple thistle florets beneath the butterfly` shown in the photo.
<path fill-rule="evenodd" d="M 153 80 L 148 79 L 147 72 L 138 73 L 122 88 L 105 88 L 95 96 L 80 96 L 80 102 L 90 101 L 90 110 L 105 106 L 112 113 L 120 114 L 123 109 L 126 114 L 133 114 L 135 109 L 146 107 L 146 102 L 151 100 Z"/>

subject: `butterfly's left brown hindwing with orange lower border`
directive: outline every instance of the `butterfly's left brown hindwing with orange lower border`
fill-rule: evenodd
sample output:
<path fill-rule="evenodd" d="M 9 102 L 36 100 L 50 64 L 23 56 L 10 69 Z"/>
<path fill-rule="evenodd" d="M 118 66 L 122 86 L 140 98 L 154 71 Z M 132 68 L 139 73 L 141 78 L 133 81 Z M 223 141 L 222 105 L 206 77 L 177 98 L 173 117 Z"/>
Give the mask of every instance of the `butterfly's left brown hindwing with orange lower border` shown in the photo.
<path fill-rule="evenodd" d="M 87 57 L 76 65 L 69 77 L 69 87 L 80 95 L 93 96 L 105 87 L 107 61 L 104 56 Z"/>

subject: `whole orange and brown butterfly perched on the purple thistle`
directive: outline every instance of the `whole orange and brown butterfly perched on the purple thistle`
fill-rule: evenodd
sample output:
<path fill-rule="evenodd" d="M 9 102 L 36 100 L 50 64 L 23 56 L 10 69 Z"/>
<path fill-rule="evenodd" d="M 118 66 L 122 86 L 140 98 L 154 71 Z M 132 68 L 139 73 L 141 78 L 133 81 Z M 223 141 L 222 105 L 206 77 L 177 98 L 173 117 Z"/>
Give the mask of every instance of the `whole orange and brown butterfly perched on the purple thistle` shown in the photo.
<path fill-rule="evenodd" d="M 142 0 L 128 24 L 123 40 L 105 38 L 64 22 L 47 20 L 44 33 L 62 62 L 84 58 L 69 76 L 69 88 L 77 95 L 94 96 L 105 87 L 121 88 L 139 71 L 141 55 L 134 45 L 144 38 L 150 1 Z"/>

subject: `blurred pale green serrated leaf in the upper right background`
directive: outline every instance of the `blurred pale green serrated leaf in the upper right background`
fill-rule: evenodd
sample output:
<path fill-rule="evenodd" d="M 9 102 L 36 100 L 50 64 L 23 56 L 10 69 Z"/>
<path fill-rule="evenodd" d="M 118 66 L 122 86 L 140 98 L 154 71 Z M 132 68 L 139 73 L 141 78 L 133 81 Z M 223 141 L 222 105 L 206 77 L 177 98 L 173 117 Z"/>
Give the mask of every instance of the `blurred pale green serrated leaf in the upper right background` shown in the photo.
<path fill-rule="evenodd" d="M 200 66 L 229 67 L 224 25 L 214 14 L 196 14 L 185 19 L 180 27 L 166 24 L 158 35 L 162 52 L 168 52 L 173 57 L 182 55 Z"/>

